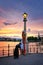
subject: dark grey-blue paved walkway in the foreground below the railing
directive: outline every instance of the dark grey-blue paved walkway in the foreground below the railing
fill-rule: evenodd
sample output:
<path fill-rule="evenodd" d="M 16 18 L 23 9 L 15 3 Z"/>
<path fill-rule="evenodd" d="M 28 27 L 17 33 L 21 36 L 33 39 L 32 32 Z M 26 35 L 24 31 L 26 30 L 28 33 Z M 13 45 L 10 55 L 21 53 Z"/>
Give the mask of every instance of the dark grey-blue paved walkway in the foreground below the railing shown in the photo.
<path fill-rule="evenodd" d="M 21 55 L 19 59 L 13 57 L 0 58 L 0 65 L 43 65 L 43 54 Z"/>

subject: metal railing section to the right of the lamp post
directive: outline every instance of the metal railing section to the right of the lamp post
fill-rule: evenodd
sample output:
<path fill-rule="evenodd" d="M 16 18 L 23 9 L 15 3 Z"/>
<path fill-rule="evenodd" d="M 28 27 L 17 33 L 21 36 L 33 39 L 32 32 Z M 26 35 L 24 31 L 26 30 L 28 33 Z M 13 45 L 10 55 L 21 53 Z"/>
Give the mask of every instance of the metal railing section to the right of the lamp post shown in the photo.
<path fill-rule="evenodd" d="M 43 45 L 26 44 L 26 53 L 43 53 Z"/>

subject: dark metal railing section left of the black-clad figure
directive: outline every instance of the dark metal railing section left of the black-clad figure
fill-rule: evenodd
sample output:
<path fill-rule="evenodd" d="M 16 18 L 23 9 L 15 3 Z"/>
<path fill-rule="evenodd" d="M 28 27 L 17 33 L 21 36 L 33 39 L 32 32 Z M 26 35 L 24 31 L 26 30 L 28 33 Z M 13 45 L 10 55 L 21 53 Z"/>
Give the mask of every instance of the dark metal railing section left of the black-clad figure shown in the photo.
<path fill-rule="evenodd" d="M 10 46 L 9 44 L 8 46 L 0 47 L 0 57 L 13 55 L 14 48 L 15 46 Z"/>

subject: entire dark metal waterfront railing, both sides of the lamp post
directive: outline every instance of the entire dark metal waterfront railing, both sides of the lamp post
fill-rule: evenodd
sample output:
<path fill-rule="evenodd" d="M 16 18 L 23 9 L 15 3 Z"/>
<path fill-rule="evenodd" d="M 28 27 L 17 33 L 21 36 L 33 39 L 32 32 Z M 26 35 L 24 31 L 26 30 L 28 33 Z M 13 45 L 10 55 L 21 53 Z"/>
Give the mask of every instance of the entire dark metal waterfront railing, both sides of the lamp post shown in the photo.
<path fill-rule="evenodd" d="M 10 46 L 8 44 L 8 46 L 0 47 L 0 49 L 1 49 L 0 50 L 0 57 L 11 56 L 11 55 L 13 56 L 15 46 Z M 20 49 L 19 49 L 19 51 L 20 51 Z M 27 53 L 43 53 L 43 46 L 42 45 L 29 45 L 29 44 L 26 44 L 26 54 Z"/>

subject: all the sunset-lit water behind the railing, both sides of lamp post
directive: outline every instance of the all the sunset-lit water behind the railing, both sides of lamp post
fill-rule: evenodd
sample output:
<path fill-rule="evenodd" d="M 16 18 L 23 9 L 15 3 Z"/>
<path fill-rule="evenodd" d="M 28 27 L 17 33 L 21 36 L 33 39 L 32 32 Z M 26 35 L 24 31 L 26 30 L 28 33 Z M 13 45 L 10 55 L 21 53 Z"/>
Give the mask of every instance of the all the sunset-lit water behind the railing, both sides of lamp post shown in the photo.
<path fill-rule="evenodd" d="M 4 56 L 8 55 L 8 45 L 10 46 L 9 48 L 9 53 L 10 55 L 13 55 L 13 49 L 15 46 L 19 44 L 19 42 L 9 42 L 9 41 L 0 41 L 0 56 L 3 56 L 3 50 L 4 50 Z M 34 43 L 28 43 L 25 45 L 26 46 L 26 53 L 43 53 L 43 46 L 39 45 L 39 42 L 34 42 Z"/>

